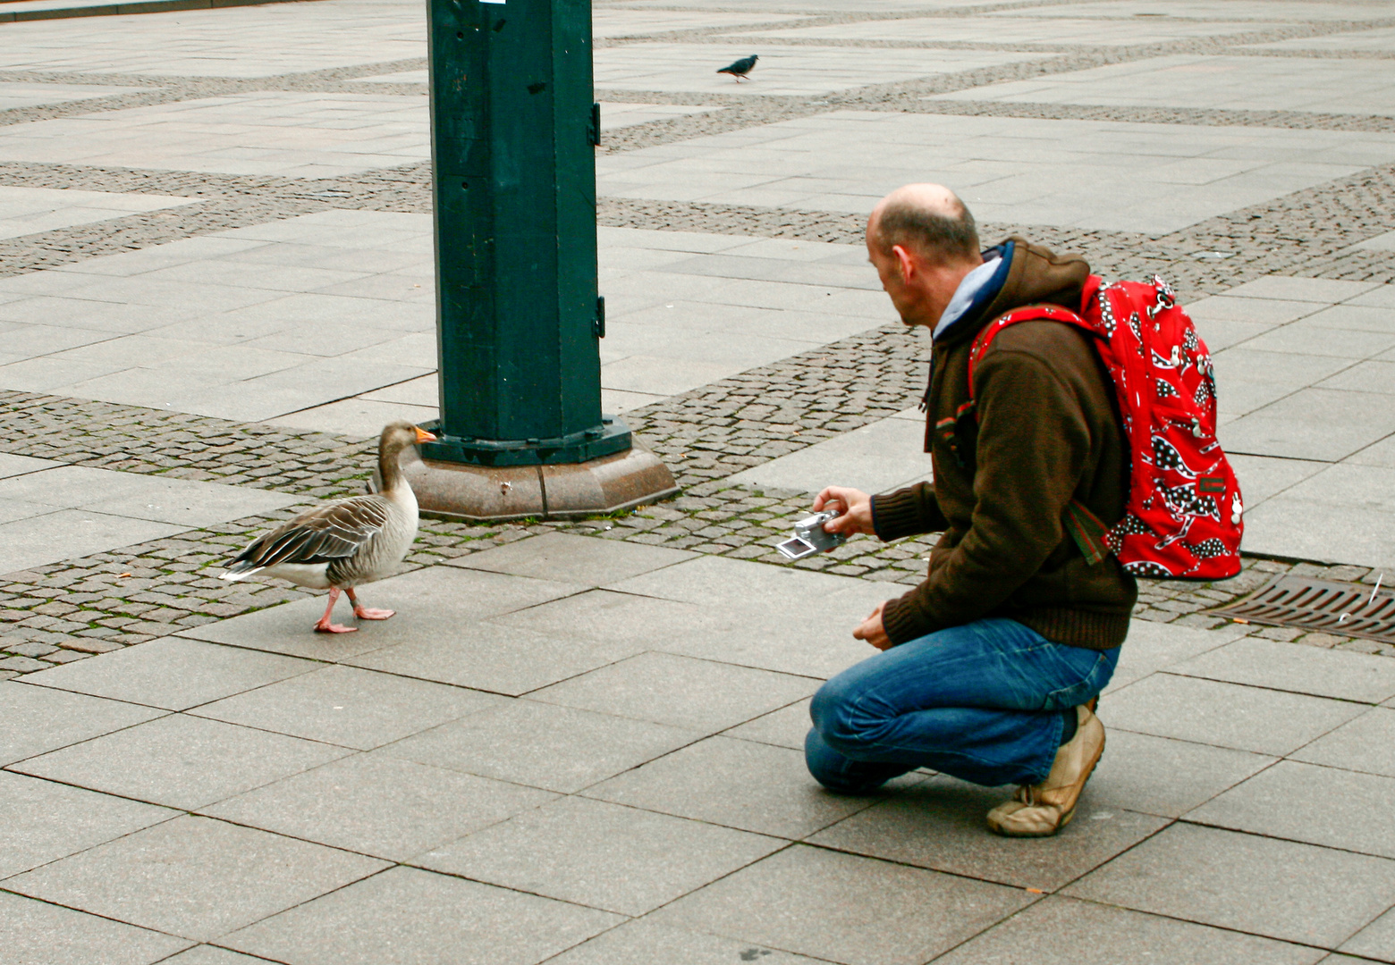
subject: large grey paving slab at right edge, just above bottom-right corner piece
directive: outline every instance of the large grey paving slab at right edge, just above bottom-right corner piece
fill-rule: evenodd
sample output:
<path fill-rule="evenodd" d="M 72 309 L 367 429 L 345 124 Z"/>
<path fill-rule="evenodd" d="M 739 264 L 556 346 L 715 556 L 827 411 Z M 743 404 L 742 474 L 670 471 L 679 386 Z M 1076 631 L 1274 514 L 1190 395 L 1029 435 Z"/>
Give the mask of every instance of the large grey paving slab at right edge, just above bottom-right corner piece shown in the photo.
<path fill-rule="evenodd" d="M 1395 902 L 1395 862 L 1173 824 L 1066 894 L 1335 948 Z"/>

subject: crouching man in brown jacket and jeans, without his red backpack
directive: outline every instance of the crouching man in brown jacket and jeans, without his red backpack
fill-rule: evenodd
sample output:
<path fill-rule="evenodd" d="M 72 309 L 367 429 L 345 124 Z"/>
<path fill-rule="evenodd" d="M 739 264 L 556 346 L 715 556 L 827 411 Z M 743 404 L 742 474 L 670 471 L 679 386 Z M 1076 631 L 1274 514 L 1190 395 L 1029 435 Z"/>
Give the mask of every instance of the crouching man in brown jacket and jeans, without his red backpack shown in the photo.
<path fill-rule="evenodd" d="M 981 252 L 972 215 L 937 184 L 883 198 L 866 244 L 901 321 L 933 333 L 935 484 L 879 496 L 829 487 L 813 508 L 841 510 L 824 526 L 836 533 L 943 535 L 925 582 L 854 630 L 882 653 L 815 696 L 809 771 L 850 793 L 917 767 L 1018 784 L 988 826 L 1056 834 L 1105 749 L 1091 710 L 1138 595 L 1113 556 L 1087 562 L 1063 513 L 1077 499 L 1119 522 L 1127 449 L 1087 333 L 1045 319 L 1003 329 L 974 367 L 972 396 L 968 360 L 979 330 L 1014 308 L 1078 311 L 1089 266 L 1017 237 Z"/>

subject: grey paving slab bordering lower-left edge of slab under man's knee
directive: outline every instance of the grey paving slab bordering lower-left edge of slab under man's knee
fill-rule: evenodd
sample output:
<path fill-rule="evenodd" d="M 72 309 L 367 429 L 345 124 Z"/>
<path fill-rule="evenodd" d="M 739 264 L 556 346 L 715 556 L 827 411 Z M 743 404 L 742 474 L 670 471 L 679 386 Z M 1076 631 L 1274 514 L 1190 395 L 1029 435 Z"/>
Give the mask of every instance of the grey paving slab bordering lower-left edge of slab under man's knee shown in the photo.
<path fill-rule="evenodd" d="M 643 915 L 784 844 L 601 800 L 562 798 L 418 855 L 413 865 Z"/>

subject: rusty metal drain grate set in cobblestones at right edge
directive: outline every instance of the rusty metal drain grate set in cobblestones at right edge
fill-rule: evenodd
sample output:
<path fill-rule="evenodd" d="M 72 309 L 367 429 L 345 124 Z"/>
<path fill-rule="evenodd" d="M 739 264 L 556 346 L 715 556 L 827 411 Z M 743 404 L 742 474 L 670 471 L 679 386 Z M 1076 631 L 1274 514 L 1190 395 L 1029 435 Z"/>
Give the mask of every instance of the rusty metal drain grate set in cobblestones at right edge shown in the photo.
<path fill-rule="evenodd" d="M 1207 612 L 1395 644 L 1395 591 L 1384 587 L 1276 576 L 1258 593 Z"/>

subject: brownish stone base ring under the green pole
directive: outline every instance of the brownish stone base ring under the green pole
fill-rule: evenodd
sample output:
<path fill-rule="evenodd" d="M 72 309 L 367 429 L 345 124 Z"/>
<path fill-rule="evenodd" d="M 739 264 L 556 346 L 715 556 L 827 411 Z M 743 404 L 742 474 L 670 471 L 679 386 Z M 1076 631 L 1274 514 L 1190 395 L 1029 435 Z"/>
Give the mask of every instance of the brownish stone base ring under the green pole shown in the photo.
<path fill-rule="evenodd" d="M 638 441 L 626 452 L 561 466 L 476 466 L 399 457 L 425 517 L 466 522 L 579 519 L 658 502 L 678 492 L 674 474 Z M 374 471 L 372 488 L 379 480 Z"/>

